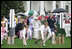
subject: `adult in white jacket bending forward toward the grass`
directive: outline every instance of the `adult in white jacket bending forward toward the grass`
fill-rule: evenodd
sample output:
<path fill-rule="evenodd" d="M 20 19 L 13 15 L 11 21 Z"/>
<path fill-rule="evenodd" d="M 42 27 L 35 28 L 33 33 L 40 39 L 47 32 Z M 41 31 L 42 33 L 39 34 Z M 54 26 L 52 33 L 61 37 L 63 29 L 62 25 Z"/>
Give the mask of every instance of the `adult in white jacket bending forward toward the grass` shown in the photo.
<path fill-rule="evenodd" d="M 51 29 L 48 26 L 48 22 L 44 22 L 44 24 L 42 23 L 40 31 L 41 31 L 42 44 L 43 46 L 45 46 L 45 41 L 51 37 Z"/>

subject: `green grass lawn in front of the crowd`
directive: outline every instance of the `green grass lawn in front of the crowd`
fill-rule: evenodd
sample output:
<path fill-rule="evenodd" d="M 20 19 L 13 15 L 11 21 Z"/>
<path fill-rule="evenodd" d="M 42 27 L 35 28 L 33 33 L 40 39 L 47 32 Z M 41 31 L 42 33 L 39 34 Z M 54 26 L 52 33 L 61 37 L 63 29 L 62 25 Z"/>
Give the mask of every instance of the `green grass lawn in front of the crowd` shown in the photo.
<path fill-rule="evenodd" d="M 53 45 L 52 40 L 49 39 L 47 42 L 46 42 L 46 46 L 41 46 L 40 43 L 41 43 L 41 40 L 38 42 L 38 45 L 35 45 L 35 40 L 32 39 L 32 40 L 28 40 L 27 41 L 27 46 L 23 46 L 23 41 L 16 38 L 15 39 L 15 44 L 14 45 L 8 45 L 7 44 L 7 41 L 4 39 L 3 40 L 3 45 L 1 45 L 1 48 L 71 48 L 71 38 L 70 37 L 65 37 L 64 38 L 64 41 L 65 43 L 64 44 L 56 44 L 56 45 Z"/>

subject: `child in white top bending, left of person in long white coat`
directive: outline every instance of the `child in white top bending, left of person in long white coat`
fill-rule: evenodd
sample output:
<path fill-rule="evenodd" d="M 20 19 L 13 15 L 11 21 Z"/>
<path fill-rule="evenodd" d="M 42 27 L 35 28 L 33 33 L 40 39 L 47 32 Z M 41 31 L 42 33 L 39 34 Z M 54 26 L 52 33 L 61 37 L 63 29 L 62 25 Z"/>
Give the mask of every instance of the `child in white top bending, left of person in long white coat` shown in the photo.
<path fill-rule="evenodd" d="M 32 38 L 31 30 L 26 26 L 23 30 L 23 45 L 27 45 L 26 40 L 29 39 L 29 37 Z"/>

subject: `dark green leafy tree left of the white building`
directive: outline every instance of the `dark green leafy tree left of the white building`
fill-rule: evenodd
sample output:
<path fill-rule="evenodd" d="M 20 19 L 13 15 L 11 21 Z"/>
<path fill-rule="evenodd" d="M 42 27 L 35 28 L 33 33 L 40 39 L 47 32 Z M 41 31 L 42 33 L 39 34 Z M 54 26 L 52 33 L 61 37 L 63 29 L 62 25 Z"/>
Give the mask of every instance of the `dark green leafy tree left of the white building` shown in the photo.
<path fill-rule="evenodd" d="M 15 9 L 15 13 L 24 12 L 24 6 L 22 1 L 2 1 L 1 2 L 1 18 L 3 16 L 9 16 L 9 10 Z"/>

